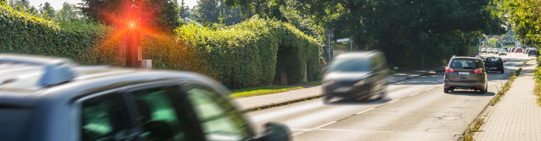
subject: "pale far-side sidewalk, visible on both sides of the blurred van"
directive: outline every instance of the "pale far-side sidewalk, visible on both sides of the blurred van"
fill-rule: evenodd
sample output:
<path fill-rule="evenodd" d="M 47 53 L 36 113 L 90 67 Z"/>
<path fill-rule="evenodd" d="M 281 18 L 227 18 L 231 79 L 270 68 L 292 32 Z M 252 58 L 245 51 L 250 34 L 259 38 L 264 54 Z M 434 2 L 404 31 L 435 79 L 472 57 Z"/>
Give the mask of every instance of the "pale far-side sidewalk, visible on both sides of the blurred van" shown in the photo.
<path fill-rule="evenodd" d="M 418 78 L 423 75 L 430 75 L 444 71 L 444 67 L 428 68 L 424 71 L 405 71 L 391 75 L 390 82 L 399 82 L 402 80 L 408 80 L 412 78 Z M 266 94 L 254 97 L 243 97 L 233 99 L 233 102 L 237 103 L 242 111 L 254 109 L 257 107 L 269 106 L 280 103 L 287 103 L 297 101 L 299 99 L 306 99 L 310 97 L 318 97 L 321 95 L 321 86 L 304 88 L 301 90 L 291 90 L 288 92 L 281 92 L 277 94 Z"/>

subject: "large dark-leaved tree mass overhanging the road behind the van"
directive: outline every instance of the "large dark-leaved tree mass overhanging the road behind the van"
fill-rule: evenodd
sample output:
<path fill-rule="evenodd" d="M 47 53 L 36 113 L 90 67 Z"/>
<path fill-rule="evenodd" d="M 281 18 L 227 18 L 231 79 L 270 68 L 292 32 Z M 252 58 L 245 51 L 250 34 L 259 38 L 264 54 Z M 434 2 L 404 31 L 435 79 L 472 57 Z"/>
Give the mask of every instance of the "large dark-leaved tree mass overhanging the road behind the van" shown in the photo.
<path fill-rule="evenodd" d="M 353 37 L 358 49 L 380 49 L 397 66 L 421 66 L 421 59 L 430 66 L 468 55 L 470 39 L 505 32 L 503 20 L 492 15 L 492 0 L 299 1 L 301 15 L 334 30 L 335 39 Z M 420 32 L 429 39 L 421 41 Z"/>

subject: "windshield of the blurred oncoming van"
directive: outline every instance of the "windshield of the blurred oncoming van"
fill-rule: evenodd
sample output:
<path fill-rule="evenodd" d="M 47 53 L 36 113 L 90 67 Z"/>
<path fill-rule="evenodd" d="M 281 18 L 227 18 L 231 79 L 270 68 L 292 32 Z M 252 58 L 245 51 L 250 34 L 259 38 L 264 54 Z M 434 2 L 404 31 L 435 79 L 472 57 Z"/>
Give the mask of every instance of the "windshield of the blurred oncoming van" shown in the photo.
<path fill-rule="evenodd" d="M 368 61 L 366 59 L 339 59 L 332 61 L 328 72 L 358 72 L 368 71 Z"/>

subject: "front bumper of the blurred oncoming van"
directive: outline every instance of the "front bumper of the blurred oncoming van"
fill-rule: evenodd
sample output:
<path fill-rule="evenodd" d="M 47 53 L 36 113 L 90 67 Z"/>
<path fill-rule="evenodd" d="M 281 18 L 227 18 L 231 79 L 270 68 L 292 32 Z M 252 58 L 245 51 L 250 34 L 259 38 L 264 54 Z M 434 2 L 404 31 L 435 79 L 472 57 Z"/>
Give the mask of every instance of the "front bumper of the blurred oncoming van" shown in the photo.
<path fill-rule="evenodd" d="M 323 86 L 322 92 L 323 95 L 331 97 L 365 97 L 370 94 L 370 87 L 368 84 L 332 84 Z"/>

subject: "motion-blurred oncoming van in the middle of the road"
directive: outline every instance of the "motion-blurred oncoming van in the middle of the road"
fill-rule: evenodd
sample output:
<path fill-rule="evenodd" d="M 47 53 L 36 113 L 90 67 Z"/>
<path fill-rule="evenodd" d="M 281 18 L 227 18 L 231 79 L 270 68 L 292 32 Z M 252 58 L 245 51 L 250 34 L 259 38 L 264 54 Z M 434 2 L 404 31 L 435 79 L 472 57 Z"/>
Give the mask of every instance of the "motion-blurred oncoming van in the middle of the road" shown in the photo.
<path fill-rule="evenodd" d="M 368 100 L 379 94 L 385 97 L 389 70 L 380 51 L 355 51 L 337 56 L 325 68 L 323 102 L 332 97 Z"/>

